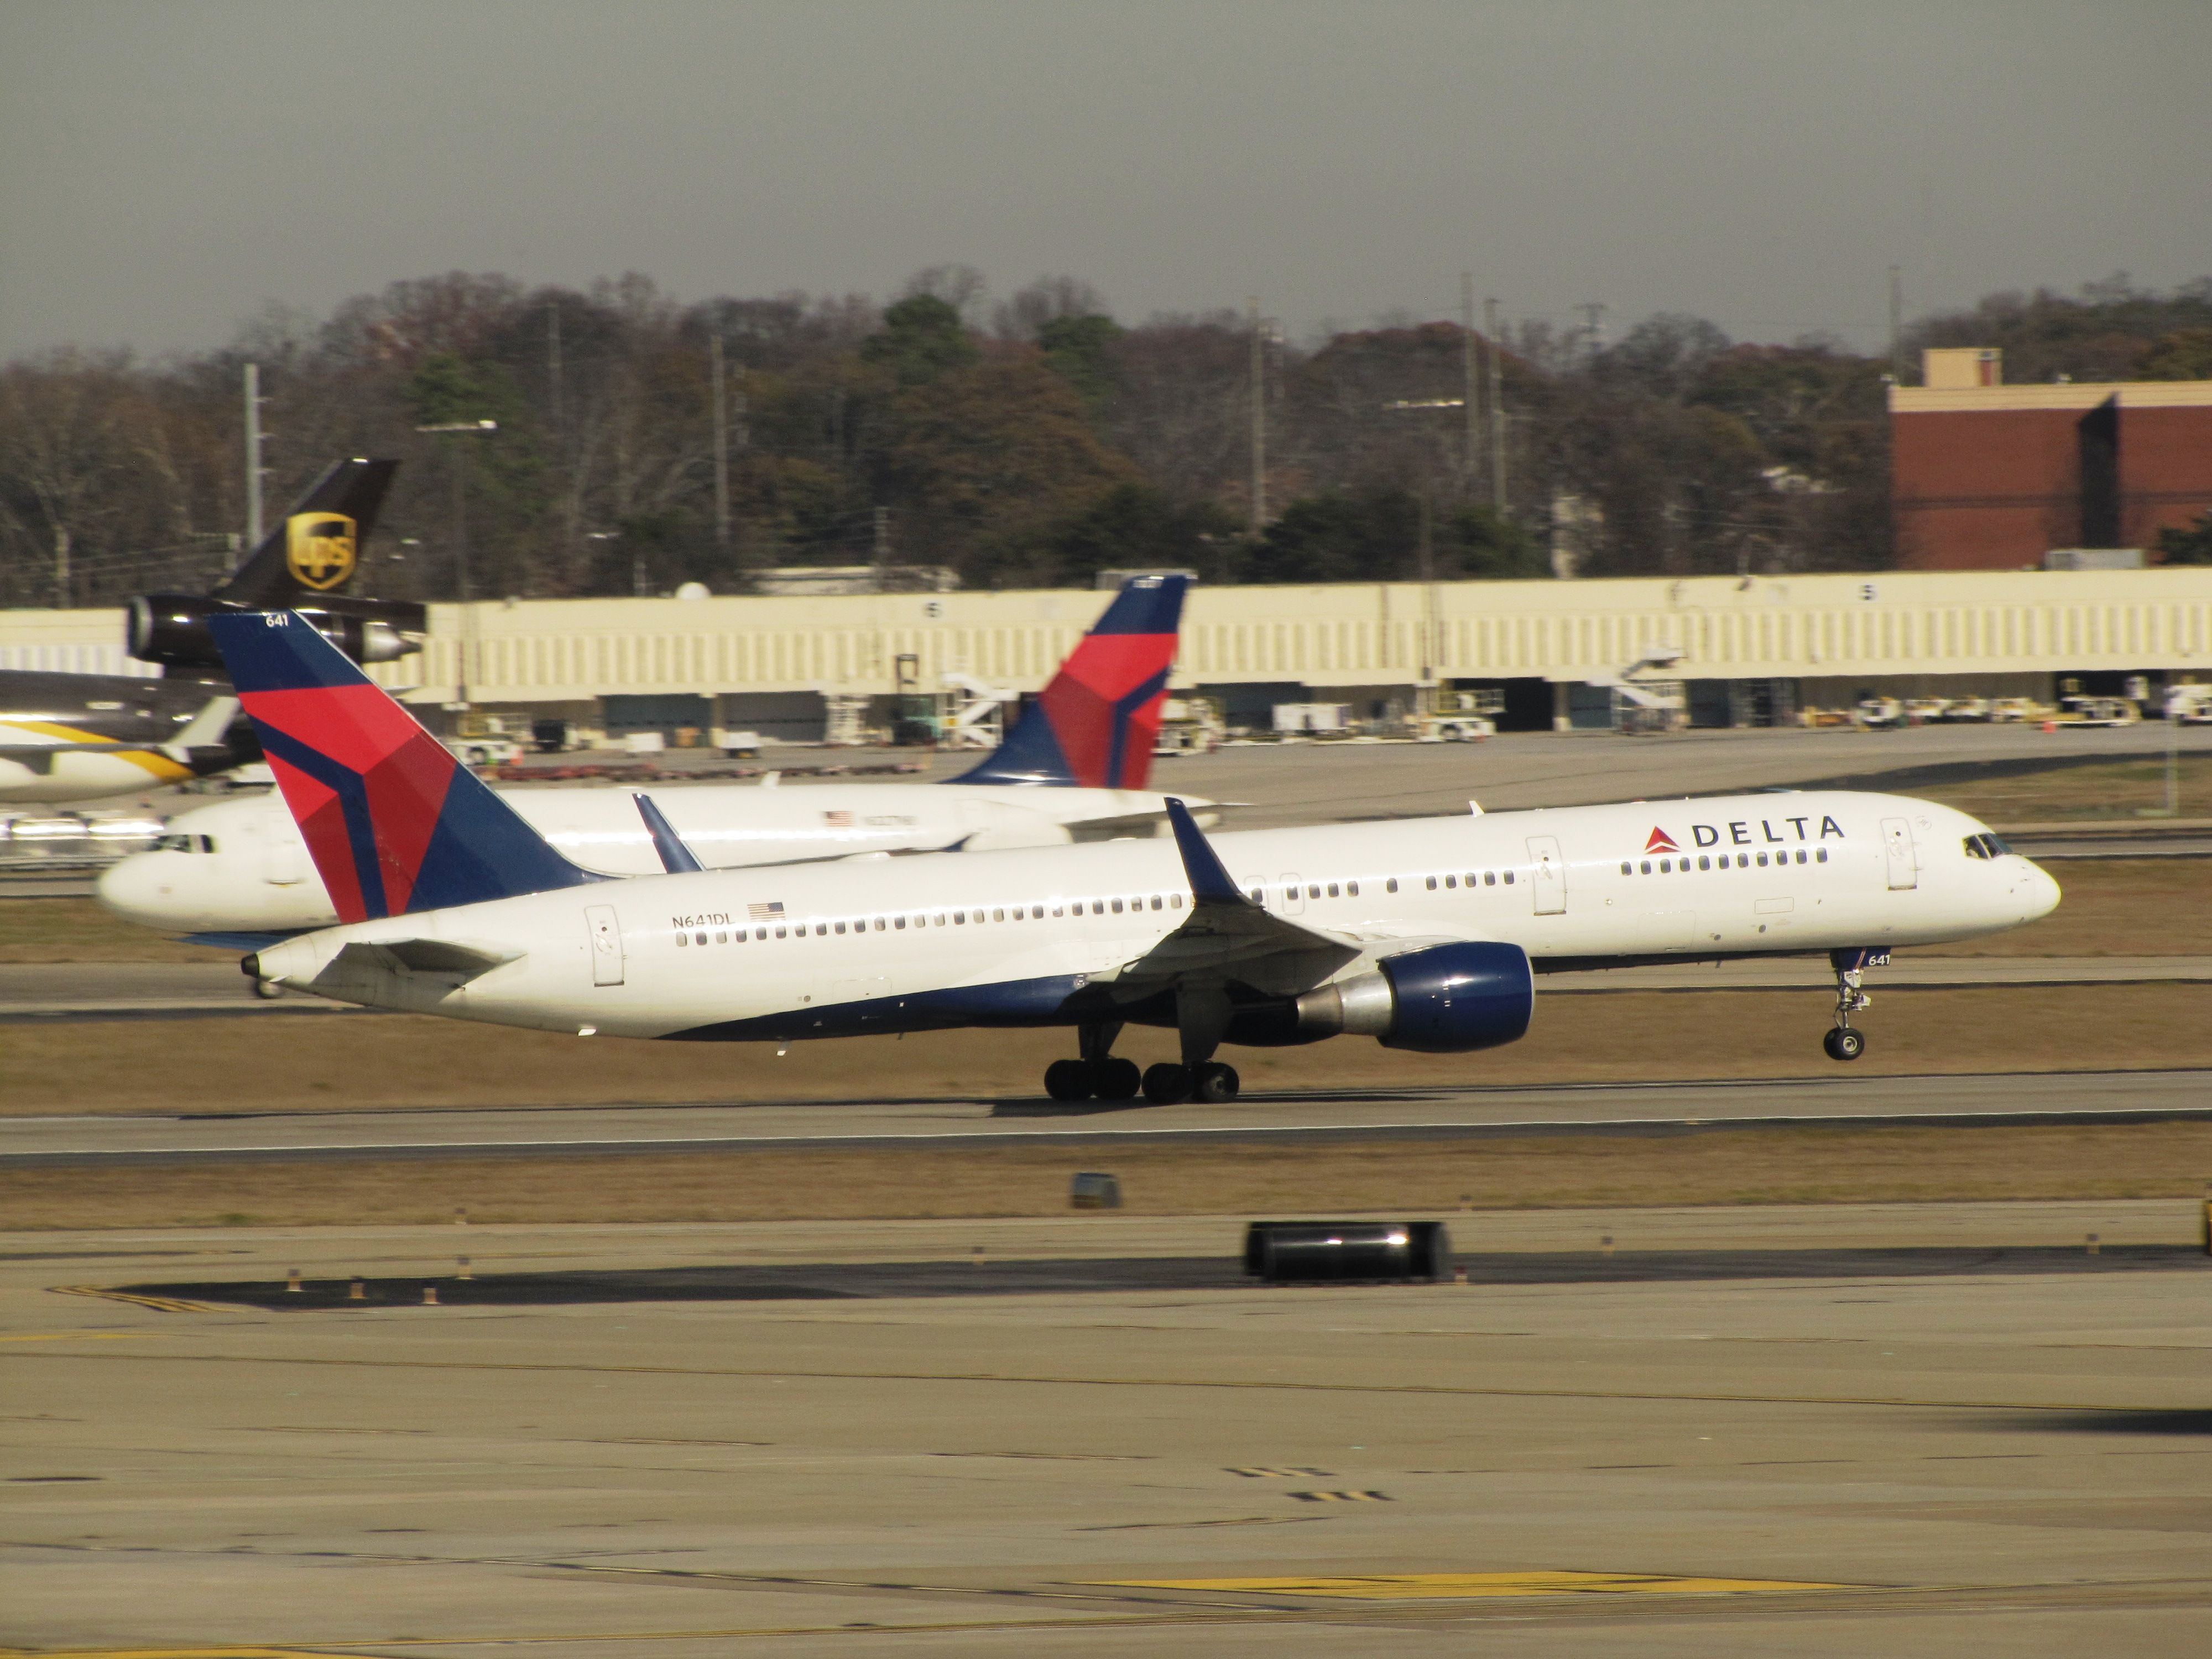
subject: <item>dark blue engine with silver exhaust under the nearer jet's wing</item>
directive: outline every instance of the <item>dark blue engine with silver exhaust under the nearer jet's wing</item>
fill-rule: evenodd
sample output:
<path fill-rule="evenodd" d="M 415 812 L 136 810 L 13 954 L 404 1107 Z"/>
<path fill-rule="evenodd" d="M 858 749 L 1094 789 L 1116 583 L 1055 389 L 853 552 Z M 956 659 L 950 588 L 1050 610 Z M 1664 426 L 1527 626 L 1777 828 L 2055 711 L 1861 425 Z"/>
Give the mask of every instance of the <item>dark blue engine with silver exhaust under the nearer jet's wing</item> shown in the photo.
<path fill-rule="evenodd" d="M 1533 1011 L 1535 975 L 1520 945 L 1433 945 L 1307 991 L 1298 998 L 1298 1035 L 1349 1031 L 1385 1048 L 1464 1055 L 1515 1042 Z"/>

